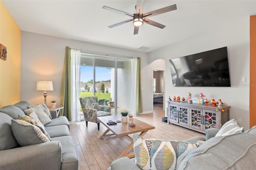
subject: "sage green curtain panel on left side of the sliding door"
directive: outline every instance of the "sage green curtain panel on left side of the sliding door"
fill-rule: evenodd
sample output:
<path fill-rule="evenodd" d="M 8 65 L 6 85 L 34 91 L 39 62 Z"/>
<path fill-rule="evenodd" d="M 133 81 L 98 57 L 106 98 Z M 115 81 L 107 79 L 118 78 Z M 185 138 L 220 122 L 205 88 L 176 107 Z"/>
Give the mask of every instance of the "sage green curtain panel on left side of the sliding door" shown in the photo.
<path fill-rule="evenodd" d="M 71 121 L 71 104 L 72 104 L 71 85 L 72 85 L 72 81 L 71 81 L 70 47 L 66 47 L 63 74 L 62 74 L 61 99 L 60 99 L 60 105 L 64 106 L 64 109 L 61 109 L 60 115 L 66 116 L 68 118 L 68 121 Z"/>

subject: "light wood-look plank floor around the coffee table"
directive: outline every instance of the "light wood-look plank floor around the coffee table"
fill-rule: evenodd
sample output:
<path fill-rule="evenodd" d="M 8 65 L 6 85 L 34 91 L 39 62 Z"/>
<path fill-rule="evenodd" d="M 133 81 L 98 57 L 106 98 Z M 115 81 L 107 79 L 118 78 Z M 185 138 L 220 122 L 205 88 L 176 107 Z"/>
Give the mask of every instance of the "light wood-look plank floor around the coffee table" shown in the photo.
<path fill-rule="evenodd" d="M 162 122 L 162 117 L 165 115 L 162 106 L 162 104 L 155 104 L 153 113 L 134 116 L 134 119 L 156 127 L 156 129 L 148 131 L 144 138 L 182 141 L 195 136 L 205 136 L 203 133 Z M 86 127 L 85 121 L 70 123 L 70 135 L 76 145 L 79 170 L 106 170 L 111 162 L 130 144 L 130 141 L 124 137 L 110 136 L 99 139 L 105 130 L 106 127 L 100 124 L 98 131 L 97 124 L 92 122 L 88 122 L 88 127 Z"/>

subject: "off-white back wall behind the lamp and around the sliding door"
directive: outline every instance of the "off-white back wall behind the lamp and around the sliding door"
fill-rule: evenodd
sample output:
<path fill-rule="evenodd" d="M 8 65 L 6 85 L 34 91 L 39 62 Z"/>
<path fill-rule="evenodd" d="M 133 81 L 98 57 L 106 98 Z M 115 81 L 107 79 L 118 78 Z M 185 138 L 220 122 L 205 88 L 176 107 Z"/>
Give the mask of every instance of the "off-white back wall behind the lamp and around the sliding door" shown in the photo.
<path fill-rule="evenodd" d="M 36 91 L 36 82 L 39 80 L 50 80 L 53 82 L 54 91 L 48 92 L 47 104 L 50 105 L 51 100 L 56 100 L 57 106 L 60 105 L 62 71 L 66 46 L 101 53 L 141 57 L 142 65 L 145 66 L 147 63 L 147 54 L 138 51 L 108 47 L 26 31 L 22 31 L 21 37 L 20 99 L 26 100 L 30 104 L 44 102 L 42 91 Z M 143 74 L 142 81 L 145 81 Z M 144 96 L 142 97 L 142 100 L 144 100 Z M 143 102 L 143 104 L 147 103 Z M 147 106 L 143 106 L 143 108 L 143 111 L 152 111 L 152 109 Z"/>

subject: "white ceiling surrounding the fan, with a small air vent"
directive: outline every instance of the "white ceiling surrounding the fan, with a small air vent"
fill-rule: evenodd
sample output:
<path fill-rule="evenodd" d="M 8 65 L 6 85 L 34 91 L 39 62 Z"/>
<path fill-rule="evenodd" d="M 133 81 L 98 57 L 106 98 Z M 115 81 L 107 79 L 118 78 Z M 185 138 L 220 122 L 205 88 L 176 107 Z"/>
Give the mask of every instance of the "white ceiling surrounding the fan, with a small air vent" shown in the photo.
<path fill-rule="evenodd" d="M 52 35 L 143 52 L 178 43 L 220 27 L 227 20 L 256 15 L 256 0 L 145 0 L 143 13 L 173 4 L 177 10 L 150 17 L 164 29 L 144 24 L 133 35 L 130 19 L 102 6 L 135 13 L 136 0 L 2 0 L 22 31 Z"/>

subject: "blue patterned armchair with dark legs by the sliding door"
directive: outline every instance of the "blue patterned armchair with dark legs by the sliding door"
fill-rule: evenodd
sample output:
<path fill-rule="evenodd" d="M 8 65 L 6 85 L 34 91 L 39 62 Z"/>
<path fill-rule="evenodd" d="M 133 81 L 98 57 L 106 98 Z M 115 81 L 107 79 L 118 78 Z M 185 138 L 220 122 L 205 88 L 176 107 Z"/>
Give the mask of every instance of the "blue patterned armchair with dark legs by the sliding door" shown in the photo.
<path fill-rule="evenodd" d="M 88 126 L 88 121 L 98 123 L 97 117 L 111 116 L 111 107 L 98 105 L 98 97 L 82 97 L 79 100 L 84 113 L 86 127 Z M 98 123 L 98 130 L 100 130 L 100 123 Z"/>

